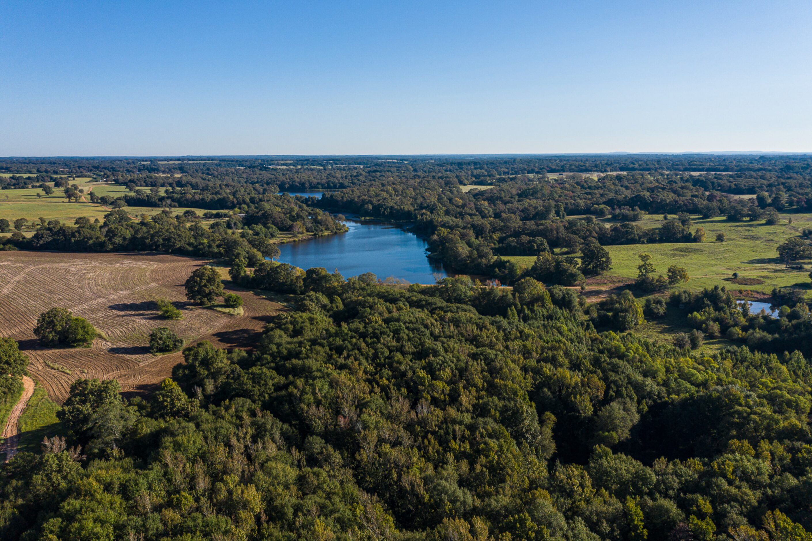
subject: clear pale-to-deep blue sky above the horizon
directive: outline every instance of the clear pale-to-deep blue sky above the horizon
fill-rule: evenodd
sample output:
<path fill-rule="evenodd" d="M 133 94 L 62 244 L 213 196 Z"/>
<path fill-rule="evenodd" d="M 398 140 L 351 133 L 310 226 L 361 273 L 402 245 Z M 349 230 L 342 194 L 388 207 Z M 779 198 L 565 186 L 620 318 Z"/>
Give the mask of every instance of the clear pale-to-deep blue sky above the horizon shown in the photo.
<path fill-rule="evenodd" d="M 0 1 L 0 155 L 812 151 L 812 2 Z"/>

